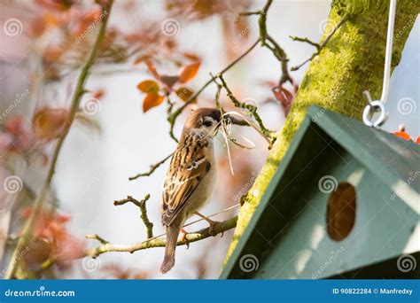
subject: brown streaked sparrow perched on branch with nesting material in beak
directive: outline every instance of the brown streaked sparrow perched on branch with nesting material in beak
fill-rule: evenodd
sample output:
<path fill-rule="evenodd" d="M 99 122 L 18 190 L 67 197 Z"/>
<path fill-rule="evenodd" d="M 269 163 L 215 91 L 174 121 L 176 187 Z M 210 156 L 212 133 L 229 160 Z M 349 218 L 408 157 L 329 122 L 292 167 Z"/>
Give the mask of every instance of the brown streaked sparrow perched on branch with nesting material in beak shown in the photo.
<path fill-rule="evenodd" d="M 216 182 L 214 136 L 222 114 L 214 108 L 199 108 L 185 121 L 183 133 L 172 156 L 164 181 L 161 221 L 167 231 L 165 256 L 160 271 L 165 274 L 175 265 L 175 247 L 184 222 L 199 214 L 213 195 Z M 184 235 L 185 235 L 185 231 Z"/>

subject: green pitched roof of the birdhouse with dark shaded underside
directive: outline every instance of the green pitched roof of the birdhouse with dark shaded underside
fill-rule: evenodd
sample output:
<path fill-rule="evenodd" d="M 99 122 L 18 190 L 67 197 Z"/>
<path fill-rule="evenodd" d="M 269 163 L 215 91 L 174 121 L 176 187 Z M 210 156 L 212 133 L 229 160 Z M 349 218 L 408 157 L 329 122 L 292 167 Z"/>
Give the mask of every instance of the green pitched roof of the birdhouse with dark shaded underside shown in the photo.
<path fill-rule="evenodd" d="M 324 170 L 338 165 L 346 167 L 340 163 L 345 161 L 344 157 L 336 157 L 338 159 L 333 160 L 327 152 L 327 147 L 330 150 L 346 152 L 349 157 L 369 170 L 371 175 L 375 175 L 375 182 L 380 182 L 386 189 L 390 189 L 418 214 L 420 145 L 383 130 L 369 128 L 361 120 L 313 105 L 261 198 L 261 203 L 240 238 L 236 250 L 223 269 L 221 278 L 246 277 L 244 270 L 239 268 L 240 258 L 245 254 L 264 254 L 261 251 L 264 245 L 267 245 L 267 239 L 276 237 L 278 230 L 294 220 L 293 215 L 278 219 L 278 216 L 275 217 L 272 213 L 275 213 L 276 209 L 290 209 L 296 204 L 296 194 L 294 198 L 288 198 L 288 192 L 293 190 L 293 183 L 296 183 L 298 176 L 300 183 L 294 184 L 298 197 L 299 190 L 306 190 L 307 182 L 314 183 L 317 169 L 305 169 L 306 167 L 321 165 Z M 318 157 L 320 154 L 323 156 Z"/>

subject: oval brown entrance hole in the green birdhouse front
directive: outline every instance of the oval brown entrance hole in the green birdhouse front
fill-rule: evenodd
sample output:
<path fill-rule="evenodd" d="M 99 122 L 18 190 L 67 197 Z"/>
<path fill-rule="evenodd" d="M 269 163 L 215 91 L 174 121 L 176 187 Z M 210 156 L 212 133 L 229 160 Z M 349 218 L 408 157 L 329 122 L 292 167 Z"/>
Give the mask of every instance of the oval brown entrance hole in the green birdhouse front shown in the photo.
<path fill-rule="evenodd" d="M 327 233 L 334 241 L 345 239 L 354 227 L 356 190 L 350 183 L 339 183 L 331 192 L 327 206 Z"/>

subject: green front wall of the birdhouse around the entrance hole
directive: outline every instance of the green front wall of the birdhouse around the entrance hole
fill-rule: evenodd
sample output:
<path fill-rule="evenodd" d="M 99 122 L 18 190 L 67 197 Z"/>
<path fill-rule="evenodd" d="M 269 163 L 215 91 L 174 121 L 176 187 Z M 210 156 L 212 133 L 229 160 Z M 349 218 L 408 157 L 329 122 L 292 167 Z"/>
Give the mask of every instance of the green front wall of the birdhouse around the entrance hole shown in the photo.
<path fill-rule="evenodd" d="M 329 147 L 321 157 L 328 160 L 313 167 L 317 168 L 313 180 L 305 183 L 310 188 L 301 190 L 295 202 L 298 214 L 267 245 L 254 278 L 333 276 L 392 258 L 409 249 L 410 241 L 416 241 L 411 234 L 418 221 L 416 213 L 375 174 L 337 147 Z M 352 184 L 356 192 L 354 227 L 341 241 L 331 239 L 327 233 L 331 193 L 321 191 L 318 185 L 325 175 L 334 176 L 338 183 Z M 345 216 L 343 213 L 338 212 L 336 217 Z"/>

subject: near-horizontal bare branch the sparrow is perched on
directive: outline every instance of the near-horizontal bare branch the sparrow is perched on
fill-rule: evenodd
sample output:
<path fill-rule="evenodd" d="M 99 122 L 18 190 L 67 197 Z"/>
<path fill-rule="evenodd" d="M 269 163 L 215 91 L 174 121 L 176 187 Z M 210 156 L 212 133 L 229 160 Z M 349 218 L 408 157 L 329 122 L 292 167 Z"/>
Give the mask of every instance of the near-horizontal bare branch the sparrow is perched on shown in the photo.
<path fill-rule="evenodd" d="M 192 242 L 197 242 L 199 240 L 203 240 L 207 237 L 214 237 L 218 234 L 221 234 L 229 229 L 234 229 L 237 226 L 237 216 L 230 218 L 225 221 L 215 222 L 213 230 L 210 230 L 210 227 L 206 229 L 200 229 L 195 232 L 188 233 L 185 239 L 178 240 L 177 245 L 187 245 Z M 149 240 L 145 240 L 143 242 L 136 243 L 135 245 L 113 245 L 107 243 L 105 245 L 97 246 L 93 249 L 90 249 L 86 252 L 87 256 L 92 258 L 96 258 L 98 255 L 102 253 L 109 253 L 109 252 L 126 252 L 126 253 L 134 253 L 136 251 L 153 248 L 153 247 L 165 247 L 167 241 L 158 237 L 154 237 Z"/>

